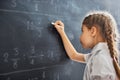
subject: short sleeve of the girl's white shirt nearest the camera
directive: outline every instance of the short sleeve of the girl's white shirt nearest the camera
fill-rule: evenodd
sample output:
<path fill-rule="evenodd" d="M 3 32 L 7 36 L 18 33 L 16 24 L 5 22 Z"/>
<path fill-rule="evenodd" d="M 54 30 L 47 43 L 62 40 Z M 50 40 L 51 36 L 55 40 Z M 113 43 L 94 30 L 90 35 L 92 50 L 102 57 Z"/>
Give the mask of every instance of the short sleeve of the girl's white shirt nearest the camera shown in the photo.
<path fill-rule="evenodd" d="M 94 56 L 91 64 L 91 79 L 90 80 L 115 80 L 114 67 L 102 53 Z M 110 58 L 109 58 L 110 59 Z M 112 60 L 112 59 L 111 59 Z"/>

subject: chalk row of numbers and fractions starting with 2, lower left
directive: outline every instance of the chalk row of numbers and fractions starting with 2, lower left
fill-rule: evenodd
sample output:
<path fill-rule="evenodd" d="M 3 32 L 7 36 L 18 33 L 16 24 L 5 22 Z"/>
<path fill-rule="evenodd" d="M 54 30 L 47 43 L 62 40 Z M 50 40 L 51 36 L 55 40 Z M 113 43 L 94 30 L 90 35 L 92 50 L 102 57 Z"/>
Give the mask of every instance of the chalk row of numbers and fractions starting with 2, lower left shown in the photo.
<path fill-rule="evenodd" d="M 60 60 L 61 54 L 58 54 L 59 49 L 57 47 L 53 47 L 48 50 L 40 50 L 39 53 L 36 51 L 36 48 L 34 45 L 31 45 L 28 51 L 26 53 L 21 53 L 23 49 L 20 49 L 18 47 L 10 49 L 11 52 L 5 52 L 1 53 L 2 60 L 1 62 L 4 64 L 7 64 L 11 62 L 12 66 L 9 65 L 9 67 L 13 69 L 20 68 L 19 63 L 22 62 L 22 60 L 28 60 L 27 64 L 35 65 L 38 63 L 46 63 L 46 62 L 56 62 Z M 39 61 L 38 61 L 39 60 Z M 44 60 L 44 62 L 43 62 Z"/>

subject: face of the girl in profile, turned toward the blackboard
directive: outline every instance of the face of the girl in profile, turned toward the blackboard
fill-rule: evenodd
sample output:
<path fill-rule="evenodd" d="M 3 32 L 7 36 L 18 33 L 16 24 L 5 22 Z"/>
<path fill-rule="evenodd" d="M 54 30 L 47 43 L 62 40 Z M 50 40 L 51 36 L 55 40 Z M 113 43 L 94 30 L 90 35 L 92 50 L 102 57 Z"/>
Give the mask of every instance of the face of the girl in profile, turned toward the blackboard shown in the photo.
<path fill-rule="evenodd" d="M 92 48 L 94 44 L 94 38 L 91 36 L 91 29 L 88 29 L 85 25 L 82 25 L 82 34 L 80 35 L 80 42 L 83 48 Z"/>

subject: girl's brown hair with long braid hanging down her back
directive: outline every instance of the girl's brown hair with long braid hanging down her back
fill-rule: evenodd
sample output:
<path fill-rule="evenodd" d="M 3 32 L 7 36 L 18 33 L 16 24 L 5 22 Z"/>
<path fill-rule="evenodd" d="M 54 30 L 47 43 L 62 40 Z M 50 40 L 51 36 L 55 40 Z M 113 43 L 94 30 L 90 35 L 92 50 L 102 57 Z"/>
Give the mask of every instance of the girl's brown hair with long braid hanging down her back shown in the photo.
<path fill-rule="evenodd" d="M 94 25 L 99 27 L 102 37 L 107 41 L 116 74 L 120 78 L 120 66 L 118 63 L 118 51 L 116 45 L 118 31 L 113 16 L 105 11 L 93 11 L 84 18 L 82 24 L 86 25 L 88 29 L 91 29 Z"/>

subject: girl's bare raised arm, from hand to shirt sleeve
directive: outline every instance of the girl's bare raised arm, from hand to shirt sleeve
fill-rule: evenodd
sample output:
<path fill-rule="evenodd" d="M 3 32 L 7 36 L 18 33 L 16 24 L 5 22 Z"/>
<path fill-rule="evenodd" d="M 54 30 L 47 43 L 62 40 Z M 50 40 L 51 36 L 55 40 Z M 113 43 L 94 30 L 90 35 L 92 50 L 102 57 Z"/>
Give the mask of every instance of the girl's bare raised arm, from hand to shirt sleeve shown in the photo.
<path fill-rule="evenodd" d="M 71 44 L 70 40 L 68 39 L 65 31 L 64 31 L 64 24 L 61 21 L 56 21 L 54 23 L 54 27 L 57 29 L 58 33 L 60 34 L 63 45 L 65 47 L 65 50 L 69 56 L 70 59 L 78 62 L 85 62 L 84 54 L 78 53 L 73 45 Z"/>

